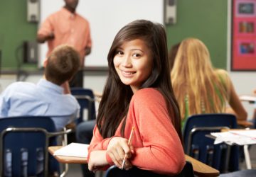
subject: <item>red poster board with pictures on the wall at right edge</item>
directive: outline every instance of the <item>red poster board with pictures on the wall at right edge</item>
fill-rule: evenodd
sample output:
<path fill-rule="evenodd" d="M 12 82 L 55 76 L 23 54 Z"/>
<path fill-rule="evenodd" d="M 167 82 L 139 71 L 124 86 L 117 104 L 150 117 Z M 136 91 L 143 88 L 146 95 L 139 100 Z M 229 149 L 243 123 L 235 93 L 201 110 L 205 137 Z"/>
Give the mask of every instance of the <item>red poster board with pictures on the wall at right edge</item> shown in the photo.
<path fill-rule="evenodd" d="M 233 71 L 256 71 L 256 0 L 233 0 Z"/>

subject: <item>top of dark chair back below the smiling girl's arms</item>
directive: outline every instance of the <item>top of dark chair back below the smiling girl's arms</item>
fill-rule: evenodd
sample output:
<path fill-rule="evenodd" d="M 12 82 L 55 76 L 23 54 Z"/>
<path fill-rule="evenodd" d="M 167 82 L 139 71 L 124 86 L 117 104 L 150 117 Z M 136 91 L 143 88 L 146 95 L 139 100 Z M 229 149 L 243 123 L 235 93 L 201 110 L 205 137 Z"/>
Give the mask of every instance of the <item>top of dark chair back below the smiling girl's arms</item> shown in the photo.
<path fill-rule="evenodd" d="M 137 167 L 133 167 L 132 169 L 129 169 L 128 171 L 126 170 L 121 170 L 117 168 L 117 166 L 110 166 L 109 169 L 107 169 L 105 173 L 105 177 L 141 177 L 141 176 L 146 176 L 146 177 L 167 177 L 169 175 L 163 175 L 159 173 L 154 173 L 152 171 L 146 171 L 139 169 Z M 193 166 L 191 162 L 186 161 L 186 164 L 178 175 L 177 177 L 192 177 L 194 176 L 193 174 Z"/>

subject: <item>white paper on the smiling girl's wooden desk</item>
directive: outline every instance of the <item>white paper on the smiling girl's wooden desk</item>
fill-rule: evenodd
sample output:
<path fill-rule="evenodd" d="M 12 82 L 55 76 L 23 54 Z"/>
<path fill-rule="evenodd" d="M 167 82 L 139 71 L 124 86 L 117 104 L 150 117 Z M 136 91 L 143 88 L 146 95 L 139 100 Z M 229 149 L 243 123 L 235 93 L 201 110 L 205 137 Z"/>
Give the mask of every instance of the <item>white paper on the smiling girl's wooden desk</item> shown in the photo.
<path fill-rule="evenodd" d="M 81 144 L 72 142 L 67 146 L 58 149 L 54 152 L 54 156 L 76 156 L 87 157 L 89 144 Z"/>

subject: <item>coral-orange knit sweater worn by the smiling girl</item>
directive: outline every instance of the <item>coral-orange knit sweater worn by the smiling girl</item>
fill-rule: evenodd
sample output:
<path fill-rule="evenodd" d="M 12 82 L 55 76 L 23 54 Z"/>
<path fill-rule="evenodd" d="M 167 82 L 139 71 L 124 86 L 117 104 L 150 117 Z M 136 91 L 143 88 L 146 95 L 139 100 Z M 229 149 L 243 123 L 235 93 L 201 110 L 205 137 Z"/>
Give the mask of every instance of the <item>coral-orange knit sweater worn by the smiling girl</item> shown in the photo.
<path fill-rule="evenodd" d="M 156 173 L 176 174 L 185 165 L 183 147 L 178 134 L 169 119 L 164 97 L 156 89 L 140 89 L 132 97 L 127 114 L 124 137 L 134 126 L 132 145 L 135 150 L 132 165 Z M 121 124 L 115 136 L 121 136 Z M 111 138 L 103 139 L 97 126 L 88 148 L 106 150 Z M 89 156 L 90 158 L 90 156 Z M 89 160 L 89 159 L 88 159 Z M 107 158 L 110 162 L 110 158 Z"/>

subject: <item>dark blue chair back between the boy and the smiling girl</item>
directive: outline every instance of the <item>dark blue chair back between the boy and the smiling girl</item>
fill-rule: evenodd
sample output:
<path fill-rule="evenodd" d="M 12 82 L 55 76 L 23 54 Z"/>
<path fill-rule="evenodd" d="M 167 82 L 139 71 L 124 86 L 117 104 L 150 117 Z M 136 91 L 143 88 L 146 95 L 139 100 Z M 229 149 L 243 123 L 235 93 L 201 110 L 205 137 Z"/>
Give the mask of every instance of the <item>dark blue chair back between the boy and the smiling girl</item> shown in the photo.
<path fill-rule="evenodd" d="M 78 103 L 80 104 L 80 117 L 75 120 L 75 123 L 78 124 L 83 121 L 83 110 L 87 109 L 88 111 L 88 120 L 94 120 L 96 118 L 95 110 L 95 96 L 91 89 L 84 89 L 79 87 L 70 88 L 70 91 L 75 98 L 77 98 Z"/>

